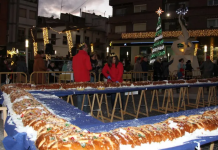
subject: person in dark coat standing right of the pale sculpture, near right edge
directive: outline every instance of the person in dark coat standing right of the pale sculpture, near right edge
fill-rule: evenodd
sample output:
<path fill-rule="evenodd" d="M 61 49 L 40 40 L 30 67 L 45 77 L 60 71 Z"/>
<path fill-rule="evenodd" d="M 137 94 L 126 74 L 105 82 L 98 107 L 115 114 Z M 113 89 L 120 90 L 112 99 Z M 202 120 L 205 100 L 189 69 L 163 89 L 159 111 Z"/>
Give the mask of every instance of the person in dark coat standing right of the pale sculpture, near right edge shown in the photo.
<path fill-rule="evenodd" d="M 213 63 L 210 60 L 210 56 L 206 57 L 206 61 L 199 67 L 200 70 L 203 70 L 203 77 L 210 78 L 213 74 Z"/>

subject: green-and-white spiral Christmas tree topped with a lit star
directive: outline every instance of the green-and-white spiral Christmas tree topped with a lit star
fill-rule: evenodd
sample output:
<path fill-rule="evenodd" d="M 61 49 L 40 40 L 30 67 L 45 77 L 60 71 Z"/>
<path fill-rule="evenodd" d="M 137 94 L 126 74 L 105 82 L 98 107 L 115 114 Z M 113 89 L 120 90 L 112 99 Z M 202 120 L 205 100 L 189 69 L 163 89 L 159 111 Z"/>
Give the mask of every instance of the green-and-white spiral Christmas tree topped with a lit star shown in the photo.
<path fill-rule="evenodd" d="M 164 40 L 162 35 L 162 27 L 161 27 L 161 18 L 160 15 L 163 13 L 162 9 L 159 9 L 156 11 L 156 13 L 159 15 L 158 22 L 157 22 L 157 28 L 156 28 L 156 34 L 154 39 L 154 45 L 152 48 L 152 54 L 150 57 L 150 63 L 154 63 L 157 57 L 164 57 L 165 56 L 165 50 L 164 50 Z"/>

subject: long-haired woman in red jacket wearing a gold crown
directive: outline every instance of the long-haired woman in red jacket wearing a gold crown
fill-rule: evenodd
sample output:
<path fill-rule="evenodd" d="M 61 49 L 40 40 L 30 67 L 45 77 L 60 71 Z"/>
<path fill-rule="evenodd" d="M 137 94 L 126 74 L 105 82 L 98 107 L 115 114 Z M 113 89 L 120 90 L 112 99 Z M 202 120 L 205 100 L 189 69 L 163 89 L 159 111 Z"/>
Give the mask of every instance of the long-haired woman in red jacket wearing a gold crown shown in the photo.
<path fill-rule="evenodd" d="M 108 63 L 102 69 L 103 75 L 108 79 L 108 82 L 123 82 L 123 64 L 117 56 L 111 56 Z M 114 107 L 116 94 L 111 94 L 111 105 Z M 121 94 L 123 97 L 123 93 Z M 119 105 L 119 102 L 117 102 Z"/>

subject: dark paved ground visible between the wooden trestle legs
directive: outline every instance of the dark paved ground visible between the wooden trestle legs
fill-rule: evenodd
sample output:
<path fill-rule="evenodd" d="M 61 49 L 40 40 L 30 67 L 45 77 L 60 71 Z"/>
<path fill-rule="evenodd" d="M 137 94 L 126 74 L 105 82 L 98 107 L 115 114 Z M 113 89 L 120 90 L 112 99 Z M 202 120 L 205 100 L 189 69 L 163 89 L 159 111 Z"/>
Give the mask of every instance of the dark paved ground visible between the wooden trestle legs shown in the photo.
<path fill-rule="evenodd" d="M 196 100 L 197 88 L 192 88 L 192 89 L 190 89 L 189 91 L 190 91 L 190 92 L 189 92 L 189 93 L 190 93 L 190 94 L 189 94 L 190 102 L 195 102 L 195 100 Z M 160 91 L 160 92 L 161 92 L 161 91 Z M 175 103 L 175 106 L 177 106 L 177 101 L 178 101 L 179 94 L 177 94 L 177 91 L 176 91 L 176 90 L 173 90 L 173 96 L 174 96 L 174 103 Z M 135 96 L 135 97 L 134 97 L 135 103 L 136 103 L 136 108 L 137 108 L 137 104 L 138 104 L 139 98 L 140 98 L 139 96 Z M 151 99 L 152 99 L 152 97 L 151 97 L 151 92 L 148 91 L 148 92 L 146 93 L 146 98 L 147 98 L 148 109 L 149 109 L 149 108 L 150 108 L 150 105 L 151 105 Z M 66 100 L 66 98 L 64 98 L 64 99 Z M 124 99 L 126 99 L 126 97 L 125 97 Z M 162 99 L 163 99 L 163 94 L 160 95 L 160 102 L 162 101 Z M 205 99 L 207 99 L 206 89 L 205 89 Z M 110 109 L 110 108 L 111 108 L 110 96 L 108 96 L 108 102 L 109 102 L 109 109 Z M 75 106 L 77 106 L 76 97 L 74 97 L 74 103 L 75 103 Z M 162 104 L 162 103 L 160 103 L 160 104 Z M 144 104 L 142 103 L 142 105 L 144 105 Z M 154 103 L 154 106 L 157 106 L 157 103 L 156 103 L 156 102 Z M 95 107 L 97 107 L 97 104 L 95 105 Z M 102 110 L 106 110 L 106 107 L 105 107 L 104 104 L 102 105 L 102 107 L 103 107 Z M 187 107 L 187 109 L 192 109 L 192 108 L 188 108 L 188 107 Z M 110 109 L 110 111 L 111 111 L 111 109 Z M 129 99 L 129 103 L 128 103 L 128 107 L 127 107 L 127 112 L 131 112 L 131 113 L 134 112 L 133 107 L 132 107 L 131 98 Z M 103 112 L 103 113 L 104 113 L 104 115 L 106 114 L 106 112 Z M 162 113 L 154 112 L 154 111 L 149 112 L 149 116 L 156 116 L 156 115 L 161 115 L 161 114 L 162 114 Z M 120 115 L 119 111 L 116 112 L 116 115 L 117 115 L 117 116 Z M 143 115 L 139 115 L 139 118 L 142 118 L 142 117 L 144 117 L 144 116 L 143 116 Z M 130 119 L 134 119 L 134 117 L 125 115 L 125 116 L 124 116 L 124 119 L 125 119 L 125 120 L 130 120 Z M 115 119 L 114 121 L 118 121 L 118 120 Z M 1 141 L 3 140 L 3 125 L 2 125 L 2 121 L 0 121 L 0 140 L 1 140 Z M 210 147 L 210 145 L 204 145 L 204 146 L 201 147 L 201 149 L 202 149 L 202 150 L 209 150 L 209 147 Z M 3 144 L 2 144 L 2 142 L 0 142 L 0 150 L 3 150 L 3 149 L 4 149 Z M 215 143 L 215 148 L 214 148 L 214 150 L 218 150 L 218 142 Z"/>

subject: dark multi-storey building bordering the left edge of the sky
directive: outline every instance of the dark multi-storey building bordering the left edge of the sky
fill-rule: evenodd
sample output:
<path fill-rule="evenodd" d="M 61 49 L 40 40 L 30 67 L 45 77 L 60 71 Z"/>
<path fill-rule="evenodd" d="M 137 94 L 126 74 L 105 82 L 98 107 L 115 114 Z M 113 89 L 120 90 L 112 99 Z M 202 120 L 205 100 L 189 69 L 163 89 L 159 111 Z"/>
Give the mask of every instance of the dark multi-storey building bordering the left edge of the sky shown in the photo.
<path fill-rule="evenodd" d="M 37 25 L 38 0 L 9 0 L 8 50 L 25 51 L 25 39 L 32 40 L 31 28 Z M 29 44 L 29 56 L 33 46 Z"/>

